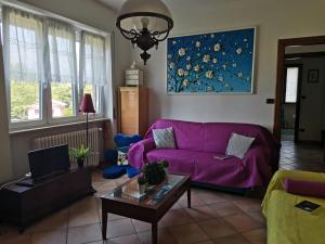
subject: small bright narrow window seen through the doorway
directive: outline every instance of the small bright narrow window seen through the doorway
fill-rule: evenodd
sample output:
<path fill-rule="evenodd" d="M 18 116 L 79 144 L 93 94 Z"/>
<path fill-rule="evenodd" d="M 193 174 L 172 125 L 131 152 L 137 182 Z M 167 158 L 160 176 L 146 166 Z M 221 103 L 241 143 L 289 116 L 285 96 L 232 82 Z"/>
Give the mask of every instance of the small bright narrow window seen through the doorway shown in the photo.
<path fill-rule="evenodd" d="M 286 77 L 286 103 L 297 102 L 299 67 L 287 67 Z"/>

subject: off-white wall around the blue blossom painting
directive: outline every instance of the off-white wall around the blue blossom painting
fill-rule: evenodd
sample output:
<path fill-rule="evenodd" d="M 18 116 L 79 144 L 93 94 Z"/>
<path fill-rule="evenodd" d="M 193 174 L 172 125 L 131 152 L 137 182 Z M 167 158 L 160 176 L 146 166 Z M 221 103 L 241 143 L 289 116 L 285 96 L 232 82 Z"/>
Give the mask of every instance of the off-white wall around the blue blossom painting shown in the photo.
<path fill-rule="evenodd" d="M 174 21 L 172 35 L 258 26 L 256 93 L 246 95 L 167 95 L 166 42 L 145 67 L 151 89 L 150 120 L 245 121 L 273 127 L 277 40 L 324 35 L 324 0 L 172 0 L 165 1 Z M 141 62 L 139 52 L 132 59 Z"/>

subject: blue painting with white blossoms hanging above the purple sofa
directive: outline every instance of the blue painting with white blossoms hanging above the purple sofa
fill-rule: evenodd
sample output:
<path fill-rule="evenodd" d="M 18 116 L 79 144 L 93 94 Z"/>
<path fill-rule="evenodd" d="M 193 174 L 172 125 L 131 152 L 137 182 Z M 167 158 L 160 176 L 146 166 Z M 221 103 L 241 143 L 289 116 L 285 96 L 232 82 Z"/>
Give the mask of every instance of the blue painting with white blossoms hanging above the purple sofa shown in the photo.
<path fill-rule="evenodd" d="M 256 28 L 172 37 L 168 93 L 251 93 Z"/>

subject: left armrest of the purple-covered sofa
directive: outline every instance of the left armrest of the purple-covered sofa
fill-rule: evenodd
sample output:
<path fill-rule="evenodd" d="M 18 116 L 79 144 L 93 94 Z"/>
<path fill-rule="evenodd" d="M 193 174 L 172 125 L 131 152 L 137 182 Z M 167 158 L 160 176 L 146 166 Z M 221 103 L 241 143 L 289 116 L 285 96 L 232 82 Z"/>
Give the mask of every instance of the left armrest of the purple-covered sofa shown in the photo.
<path fill-rule="evenodd" d="M 146 162 L 146 153 L 155 147 L 156 144 L 153 138 L 146 138 L 134 143 L 128 152 L 129 164 L 138 169 L 141 169 Z"/>

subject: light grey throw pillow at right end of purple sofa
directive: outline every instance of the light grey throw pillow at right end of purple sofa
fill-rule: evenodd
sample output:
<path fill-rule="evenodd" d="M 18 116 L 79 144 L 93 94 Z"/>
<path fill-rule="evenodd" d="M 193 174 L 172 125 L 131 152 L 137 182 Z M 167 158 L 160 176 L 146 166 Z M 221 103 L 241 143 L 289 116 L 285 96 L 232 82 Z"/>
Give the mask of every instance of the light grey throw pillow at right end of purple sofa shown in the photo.
<path fill-rule="evenodd" d="M 255 138 L 245 137 L 237 133 L 232 133 L 226 146 L 226 155 L 236 156 L 240 159 L 244 158 L 245 153 L 249 150 Z"/>

